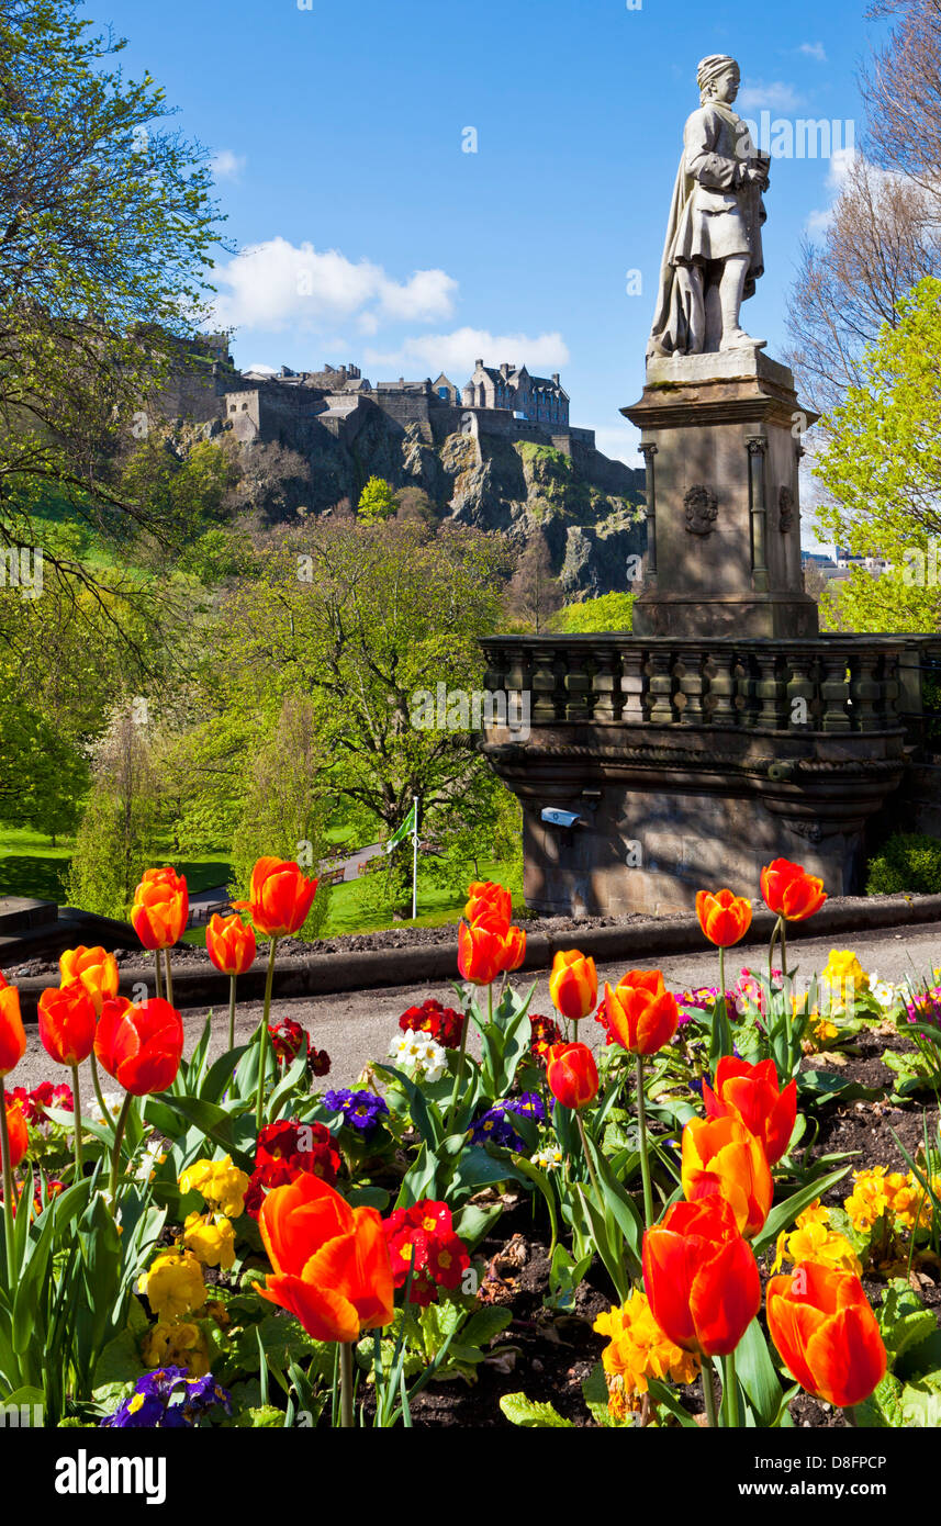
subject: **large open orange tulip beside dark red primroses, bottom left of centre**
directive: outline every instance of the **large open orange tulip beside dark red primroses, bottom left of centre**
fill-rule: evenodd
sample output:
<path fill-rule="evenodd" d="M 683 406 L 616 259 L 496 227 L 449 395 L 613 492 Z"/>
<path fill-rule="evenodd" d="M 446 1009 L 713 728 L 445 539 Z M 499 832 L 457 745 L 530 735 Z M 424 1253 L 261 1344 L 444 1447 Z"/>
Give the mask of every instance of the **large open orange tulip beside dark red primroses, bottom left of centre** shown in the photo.
<path fill-rule="evenodd" d="M 300 1172 L 268 1192 L 258 1227 L 275 1268 L 258 1291 L 313 1340 L 354 1341 L 392 1323 L 392 1265 L 375 1209 L 351 1209 L 322 1177 Z"/>

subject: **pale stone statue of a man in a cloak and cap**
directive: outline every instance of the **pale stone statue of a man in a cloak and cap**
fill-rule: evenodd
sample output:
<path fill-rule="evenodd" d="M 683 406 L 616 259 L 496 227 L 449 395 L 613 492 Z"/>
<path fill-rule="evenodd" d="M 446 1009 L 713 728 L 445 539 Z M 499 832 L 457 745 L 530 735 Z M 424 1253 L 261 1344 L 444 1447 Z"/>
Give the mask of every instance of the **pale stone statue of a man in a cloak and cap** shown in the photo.
<path fill-rule="evenodd" d="M 703 58 L 697 82 L 702 104 L 683 134 L 648 357 L 766 343 L 743 331 L 740 311 L 764 272 L 761 192 L 770 160 L 732 111 L 741 84 L 735 60 Z"/>

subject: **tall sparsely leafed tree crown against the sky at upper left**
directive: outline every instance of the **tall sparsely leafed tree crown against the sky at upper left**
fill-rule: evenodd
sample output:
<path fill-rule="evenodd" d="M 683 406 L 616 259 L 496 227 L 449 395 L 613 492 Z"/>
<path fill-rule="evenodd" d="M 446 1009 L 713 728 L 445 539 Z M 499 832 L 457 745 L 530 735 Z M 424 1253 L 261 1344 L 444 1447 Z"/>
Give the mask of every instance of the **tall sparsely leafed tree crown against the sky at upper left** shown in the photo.
<path fill-rule="evenodd" d="M 79 0 L 6 0 L 0 15 L 8 543 L 32 543 L 50 488 L 96 526 L 159 523 L 159 505 L 119 491 L 111 450 L 204 320 L 218 240 L 206 151 L 168 127 L 149 75 L 113 64 L 124 41 L 79 12 Z"/>

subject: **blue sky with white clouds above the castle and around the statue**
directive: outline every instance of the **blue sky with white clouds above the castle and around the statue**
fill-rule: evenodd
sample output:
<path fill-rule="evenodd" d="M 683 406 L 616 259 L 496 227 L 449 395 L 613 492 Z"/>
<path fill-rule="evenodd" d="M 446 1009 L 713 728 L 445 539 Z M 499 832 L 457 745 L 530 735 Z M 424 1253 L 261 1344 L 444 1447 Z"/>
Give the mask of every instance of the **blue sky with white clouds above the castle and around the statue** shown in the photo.
<path fill-rule="evenodd" d="M 636 461 L 644 351 L 695 66 L 738 110 L 854 122 L 865 0 L 90 0 L 217 156 L 217 285 L 239 365 L 355 360 L 372 382 L 482 354 L 561 371 L 572 423 Z M 464 151 L 474 145 L 476 153 Z M 846 140 L 846 128 L 842 128 Z M 749 331 L 784 345 L 799 241 L 840 156 L 781 157 Z M 631 276 L 630 272 L 639 272 Z M 628 285 L 641 287 L 628 295 Z"/>

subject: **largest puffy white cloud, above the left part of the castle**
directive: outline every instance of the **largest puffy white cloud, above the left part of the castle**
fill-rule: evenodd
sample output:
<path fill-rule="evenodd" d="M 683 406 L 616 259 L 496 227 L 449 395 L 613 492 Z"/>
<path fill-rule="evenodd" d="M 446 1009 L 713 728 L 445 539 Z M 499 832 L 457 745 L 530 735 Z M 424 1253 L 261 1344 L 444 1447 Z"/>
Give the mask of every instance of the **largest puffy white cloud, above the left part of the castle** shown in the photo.
<path fill-rule="evenodd" d="M 416 270 L 395 281 L 369 259 L 352 262 L 337 249 L 268 238 L 215 270 L 217 319 L 224 328 L 317 330 L 371 314 L 386 320 L 450 317 L 458 282 L 444 270 Z"/>

